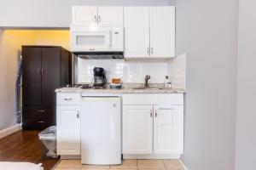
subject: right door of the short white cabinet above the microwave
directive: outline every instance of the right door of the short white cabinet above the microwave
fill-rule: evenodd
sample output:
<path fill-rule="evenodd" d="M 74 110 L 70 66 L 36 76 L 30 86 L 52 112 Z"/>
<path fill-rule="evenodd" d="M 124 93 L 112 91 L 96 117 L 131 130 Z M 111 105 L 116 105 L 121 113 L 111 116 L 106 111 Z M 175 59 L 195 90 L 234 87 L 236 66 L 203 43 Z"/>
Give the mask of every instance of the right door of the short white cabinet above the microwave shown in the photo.
<path fill-rule="evenodd" d="M 123 7 L 98 7 L 99 26 L 123 26 Z"/>

